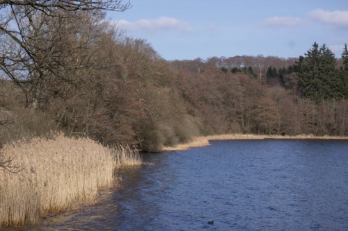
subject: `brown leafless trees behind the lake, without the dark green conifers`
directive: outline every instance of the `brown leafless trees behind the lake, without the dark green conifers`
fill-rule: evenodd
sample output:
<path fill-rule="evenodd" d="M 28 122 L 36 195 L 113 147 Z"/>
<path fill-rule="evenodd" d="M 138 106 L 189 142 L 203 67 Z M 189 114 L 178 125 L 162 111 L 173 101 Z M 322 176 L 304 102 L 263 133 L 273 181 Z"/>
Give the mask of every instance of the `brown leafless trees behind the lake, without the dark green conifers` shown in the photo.
<path fill-rule="evenodd" d="M 284 76 L 285 87 L 267 85 L 265 67 L 287 67 L 294 60 L 243 56 L 167 62 L 148 42 L 120 35 L 102 14 L 81 13 L 77 22 L 37 19 L 47 20 L 37 29 L 52 40 L 40 49 L 31 44 L 35 60 L 52 71 L 33 71 L 20 85 L 28 100 L 3 82 L 0 127 L 10 128 L 12 137 L 3 140 L 58 128 L 104 144 L 159 151 L 221 133 L 347 135 L 346 101 L 302 99 L 294 74 Z M 258 78 L 225 73 L 222 62 L 228 68 L 251 66 Z"/>

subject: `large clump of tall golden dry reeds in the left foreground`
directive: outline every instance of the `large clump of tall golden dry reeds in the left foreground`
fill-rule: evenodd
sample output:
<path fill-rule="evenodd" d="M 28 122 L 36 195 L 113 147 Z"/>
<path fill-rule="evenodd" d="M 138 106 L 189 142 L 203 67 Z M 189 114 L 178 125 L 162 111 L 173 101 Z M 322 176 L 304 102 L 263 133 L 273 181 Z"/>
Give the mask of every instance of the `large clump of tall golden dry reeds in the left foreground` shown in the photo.
<path fill-rule="evenodd" d="M 36 223 L 49 212 L 93 204 L 98 189 L 113 185 L 115 167 L 141 164 L 129 147 L 108 148 L 62 134 L 6 144 L 1 152 L 24 169 L 0 171 L 0 227 Z"/>

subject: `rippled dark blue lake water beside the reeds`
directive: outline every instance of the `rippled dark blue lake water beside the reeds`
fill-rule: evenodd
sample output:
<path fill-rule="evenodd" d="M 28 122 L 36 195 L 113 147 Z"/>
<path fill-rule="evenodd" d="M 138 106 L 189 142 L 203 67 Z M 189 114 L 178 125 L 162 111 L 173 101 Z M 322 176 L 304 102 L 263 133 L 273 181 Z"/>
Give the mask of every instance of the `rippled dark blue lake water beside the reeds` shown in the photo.
<path fill-rule="evenodd" d="M 100 204 L 24 230 L 348 230 L 347 141 L 211 144 L 144 154 Z"/>

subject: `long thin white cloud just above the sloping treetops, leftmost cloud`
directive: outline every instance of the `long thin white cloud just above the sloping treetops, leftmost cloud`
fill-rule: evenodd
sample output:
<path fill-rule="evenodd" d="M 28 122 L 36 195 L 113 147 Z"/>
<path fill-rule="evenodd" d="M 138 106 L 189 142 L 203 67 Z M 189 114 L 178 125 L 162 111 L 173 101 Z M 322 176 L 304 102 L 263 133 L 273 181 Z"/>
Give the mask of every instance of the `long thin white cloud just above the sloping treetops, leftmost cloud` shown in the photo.
<path fill-rule="evenodd" d="M 158 19 L 140 19 L 136 22 L 128 22 L 127 20 L 120 19 L 116 24 L 129 31 L 142 31 L 148 33 L 157 33 L 160 31 L 189 33 L 192 31 L 189 23 L 166 16 L 159 17 Z"/>

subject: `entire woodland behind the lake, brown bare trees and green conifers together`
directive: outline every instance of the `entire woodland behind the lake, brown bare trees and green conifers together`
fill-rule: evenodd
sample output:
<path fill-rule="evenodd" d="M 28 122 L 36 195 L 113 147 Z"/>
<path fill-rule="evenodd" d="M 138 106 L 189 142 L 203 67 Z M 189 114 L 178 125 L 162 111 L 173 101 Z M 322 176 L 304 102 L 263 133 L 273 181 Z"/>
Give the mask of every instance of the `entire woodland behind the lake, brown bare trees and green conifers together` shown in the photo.
<path fill-rule="evenodd" d="M 168 61 L 99 8 L 10 8 L 0 145 L 51 130 L 143 151 L 221 133 L 348 135 L 347 45 L 340 59 L 314 43 L 299 58 Z"/>

